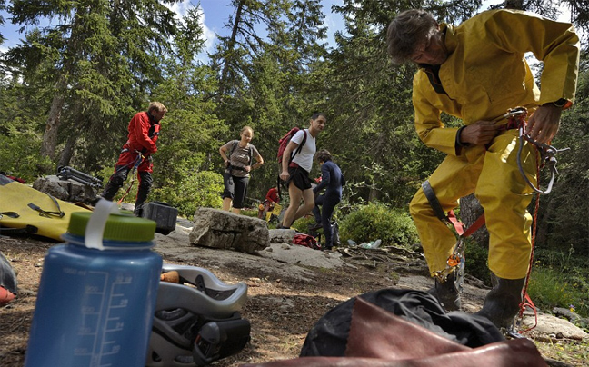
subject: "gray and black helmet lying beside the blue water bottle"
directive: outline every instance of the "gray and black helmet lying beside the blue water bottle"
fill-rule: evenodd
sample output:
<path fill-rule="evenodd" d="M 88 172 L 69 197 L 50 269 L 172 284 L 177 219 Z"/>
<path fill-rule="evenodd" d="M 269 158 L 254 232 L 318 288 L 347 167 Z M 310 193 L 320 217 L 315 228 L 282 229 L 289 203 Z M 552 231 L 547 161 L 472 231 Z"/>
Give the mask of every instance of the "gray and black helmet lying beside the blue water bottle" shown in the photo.
<path fill-rule="evenodd" d="M 239 311 L 247 285 L 221 282 L 208 270 L 165 264 L 179 283 L 161 282 L 157 291 L 148 367 L 205 366 L 241 351 L 250 339 L 250 323 Z"/>

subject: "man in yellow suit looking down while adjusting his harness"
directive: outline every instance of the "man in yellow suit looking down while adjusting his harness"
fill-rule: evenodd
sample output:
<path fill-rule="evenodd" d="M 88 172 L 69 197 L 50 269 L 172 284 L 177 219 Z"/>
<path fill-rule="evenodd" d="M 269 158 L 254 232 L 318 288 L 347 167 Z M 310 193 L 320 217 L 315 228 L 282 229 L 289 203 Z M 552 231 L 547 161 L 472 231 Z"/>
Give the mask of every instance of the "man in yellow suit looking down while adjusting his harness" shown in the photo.
<path fill-rule="evenodd" d="M 395 63 L 419 68 L 413 84 L 415 129 L 424 144 L 447 154 L 428 180 L 442 209 L 454 209 L 470 193 L 484 208 L 494 287 L 478 313 L 507 327 L 519 311 L 530 260 L 532 218 L 526 208 L 533 190 L 518 169 L 518 131 L 494 120 L 523 106 L 529 116 L 525 134 L 550 142 L 562 110 L 574 102 L 579 39 L 570 24 L 521 11 L 487 11 L 454 26 L 412 9 L 391 22 L 387 42 Z M 544 62 L 541 91 L 526 52 Z M 464 126 L 445 127 L 443 112 Z M 524 143 L 521 163 L 534 184 L 535 154 L 533 144 Z M 414 195 L 410 212 L 435 276 L 446 267 L 456 239 L 423 189 Z M 460 309 L 454 273 L 445 282 L 435 277 L 433 293 L 446 310 Z"/>

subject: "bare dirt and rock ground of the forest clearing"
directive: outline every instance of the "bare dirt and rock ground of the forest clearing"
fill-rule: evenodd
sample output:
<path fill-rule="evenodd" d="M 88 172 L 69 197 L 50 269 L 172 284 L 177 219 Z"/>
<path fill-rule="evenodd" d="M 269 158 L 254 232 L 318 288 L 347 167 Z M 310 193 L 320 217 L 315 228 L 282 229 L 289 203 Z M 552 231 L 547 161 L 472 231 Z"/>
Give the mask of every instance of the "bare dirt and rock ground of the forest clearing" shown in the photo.
<path fill-rule="evenodd" d="M 251 342 L 242 352 L 214 362 L 215 366 L 295 358 L 314 323 L 338 303 L 388 287 L 425 290 L 431 282 L 418 252 L 340 249 L 324 253 L 275 243 L 250 255 L 191 246 L 189 231 L 189 223 L 179 223 L 168 236 L 156 234 L 155 249 L 165 263 L 203 267 L 225 283 L 248 285 L 242 316 L 251 322 Z M 17 299 L 0 308 L 0 366 L 24 363 L 44 255 L 53 245 L 40 238 L 0 238 L 0 251 L 17 272 L 19 286 Z M 474 279 L 466 284 L 465 312 L 481 307 L 487 291 L 479 285 Z M 548 332 L 537 332 L 530 336 L 544 358 L 552 360 L 550 365 L 589 365 L 584 361 L 586 352 L 566 347 L 586 346 L 578 335 L 564 333 L 557 339 Z"/>

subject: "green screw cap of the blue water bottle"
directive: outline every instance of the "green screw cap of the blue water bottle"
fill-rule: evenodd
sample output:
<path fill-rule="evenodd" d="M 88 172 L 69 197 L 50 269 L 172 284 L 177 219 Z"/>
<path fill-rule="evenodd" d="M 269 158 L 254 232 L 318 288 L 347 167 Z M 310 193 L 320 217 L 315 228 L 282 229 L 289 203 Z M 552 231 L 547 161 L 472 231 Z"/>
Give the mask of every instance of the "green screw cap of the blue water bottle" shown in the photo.
<path fill-rule="evenodd" d="M 92 213 L 75 212 L 70 217 L 67 232 L 85 236 L 85 228 Z M 110 214 L 106 220 L 103 239 L 140 243 L 152 241 L 155 237 L 155 222 L 145 218 L 137 218 L 133 214 Z"/>

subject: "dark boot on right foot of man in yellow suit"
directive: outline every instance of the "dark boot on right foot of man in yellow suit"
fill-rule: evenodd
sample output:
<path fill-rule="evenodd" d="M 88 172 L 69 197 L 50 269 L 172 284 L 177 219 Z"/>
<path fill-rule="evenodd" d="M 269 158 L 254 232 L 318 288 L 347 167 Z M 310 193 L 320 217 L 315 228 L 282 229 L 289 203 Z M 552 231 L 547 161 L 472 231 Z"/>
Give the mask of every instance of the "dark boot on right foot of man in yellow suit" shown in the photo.
<path fill-rule="evenodd" d="M 484 298 L 481 311 L 474 314 L 486 317 L 497 328 L 509 329 L 520 310 L 525 278 L 503 279 L 491 273 L 493 289 Z"/>

